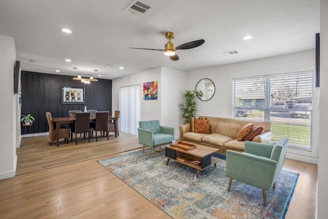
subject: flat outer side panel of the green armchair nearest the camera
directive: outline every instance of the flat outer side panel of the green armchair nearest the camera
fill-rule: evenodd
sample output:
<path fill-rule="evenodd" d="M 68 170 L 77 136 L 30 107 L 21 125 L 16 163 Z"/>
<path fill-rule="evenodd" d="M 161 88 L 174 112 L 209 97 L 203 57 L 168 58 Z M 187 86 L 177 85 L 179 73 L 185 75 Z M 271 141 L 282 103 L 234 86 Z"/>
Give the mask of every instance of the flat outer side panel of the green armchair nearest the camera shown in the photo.
<path fill-rule="evenodd" d="M 227 150 L 226 176 L 267 191 L 273 184 L 276 166 L 270 158 Z"/>

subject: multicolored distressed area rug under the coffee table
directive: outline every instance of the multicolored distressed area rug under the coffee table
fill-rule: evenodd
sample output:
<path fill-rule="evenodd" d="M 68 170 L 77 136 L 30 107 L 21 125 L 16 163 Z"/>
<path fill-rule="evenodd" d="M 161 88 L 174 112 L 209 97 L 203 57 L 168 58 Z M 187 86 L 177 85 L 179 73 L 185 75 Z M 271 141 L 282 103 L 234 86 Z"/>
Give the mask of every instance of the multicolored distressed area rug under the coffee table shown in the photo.
<path fill-rule="evenodd" d="M 200 171 L 175 161 L 166 166 L 164 149 L 132 152 L 98 161 L 173 218 L 284 218 L 298 173 L 282 170 L 276 188 L 267 192 L 233 181 L 228 192 L 226 156 L 215 153 L 216 167 Z"/>

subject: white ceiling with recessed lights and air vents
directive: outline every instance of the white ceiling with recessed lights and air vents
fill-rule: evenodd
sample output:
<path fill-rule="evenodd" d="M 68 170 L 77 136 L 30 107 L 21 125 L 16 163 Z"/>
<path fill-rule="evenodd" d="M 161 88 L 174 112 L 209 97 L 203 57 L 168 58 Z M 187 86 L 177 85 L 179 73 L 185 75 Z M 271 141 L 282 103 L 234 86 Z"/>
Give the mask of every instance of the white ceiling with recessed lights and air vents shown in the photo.
<path fill-rule="evenodd" d="M 14 37 L 24 71 L 113 79 L 159 66 L 190 71 L 314 49 L 319 32 L 319 0 L 145 0 L 139 2 L 151 10 L 143 15 L 124 11 L 131 2 L 0 0 L 0 34 Z M 178 50 L 178 61 L 129 48 L 164 49 L 167 31 L 175 33 L 175 46 L 205 43 Z M 249 34 L 254 38 L 241 39 Z M 238 53 L 223 54 L 231 50 Z"/>

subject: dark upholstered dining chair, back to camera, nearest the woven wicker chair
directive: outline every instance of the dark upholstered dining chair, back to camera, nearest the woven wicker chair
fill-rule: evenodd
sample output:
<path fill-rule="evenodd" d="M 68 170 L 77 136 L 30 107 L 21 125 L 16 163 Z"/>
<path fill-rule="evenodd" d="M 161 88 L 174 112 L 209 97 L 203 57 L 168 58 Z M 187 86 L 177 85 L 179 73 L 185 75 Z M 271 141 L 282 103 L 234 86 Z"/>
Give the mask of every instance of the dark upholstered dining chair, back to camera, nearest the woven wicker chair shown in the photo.
<path fill-rule="evenodd" d="M 73 141 L 73 132 L 75 133 L 75 144 L 77 145 L 77 133 L 83 133 L 84 139 L 86 139 L 86 133 L 88 134 L 88 140 L 90 143 L 90 112 L 77 112 L 75 114 L 75 124 L 71 129 L 71 142 Z"/>

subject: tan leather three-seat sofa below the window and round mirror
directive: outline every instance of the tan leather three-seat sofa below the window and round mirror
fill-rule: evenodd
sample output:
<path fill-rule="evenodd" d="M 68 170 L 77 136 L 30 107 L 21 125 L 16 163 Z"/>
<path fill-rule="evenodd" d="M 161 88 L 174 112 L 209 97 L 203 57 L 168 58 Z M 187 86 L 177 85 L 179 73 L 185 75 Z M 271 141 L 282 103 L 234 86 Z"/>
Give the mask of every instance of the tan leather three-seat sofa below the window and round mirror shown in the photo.
<path fill-rule="evenodd" d="M 262 126 L 263 133 L 255 136 L 252 142 L 269 144 L 271 139 L 271 122 L 260 122 L 242 120 L 236 118 L 220 118 L 210 116 L 199 116 L 207 118 L 210 123 L 210 134 L 190 132 L 190 124 L 180 125 L 180 140 L 199 145 L 219 148 L 219 153 L 225 154 L 227 150 L 243 152 L 244 141 L 237 141 L 239 131 L 247 124 Z"/>

